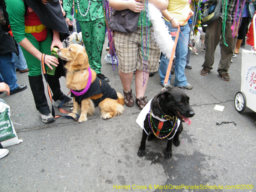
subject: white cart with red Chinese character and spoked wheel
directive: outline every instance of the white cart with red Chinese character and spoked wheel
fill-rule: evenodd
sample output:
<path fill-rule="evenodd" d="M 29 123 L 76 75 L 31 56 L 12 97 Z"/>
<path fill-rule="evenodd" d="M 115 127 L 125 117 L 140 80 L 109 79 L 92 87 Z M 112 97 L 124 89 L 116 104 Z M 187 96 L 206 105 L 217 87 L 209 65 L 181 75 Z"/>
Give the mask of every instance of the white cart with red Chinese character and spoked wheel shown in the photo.
<path fill-rule="evenodd" d="M 255 17 L 253 17 L 254 46 L 256 46 Z M 235 107 L 239 113 L 246 107 L 256 112 L 256 52 L 242 51 L 241 91 L 236 93 Z"/>

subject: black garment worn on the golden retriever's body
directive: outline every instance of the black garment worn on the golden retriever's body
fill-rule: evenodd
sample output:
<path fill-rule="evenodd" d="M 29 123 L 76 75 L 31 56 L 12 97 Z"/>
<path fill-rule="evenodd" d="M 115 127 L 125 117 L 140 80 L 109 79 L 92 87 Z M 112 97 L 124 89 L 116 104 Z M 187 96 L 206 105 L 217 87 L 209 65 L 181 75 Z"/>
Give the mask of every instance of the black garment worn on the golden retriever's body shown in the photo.
<path fill-rule="evenodd" d="M 76 92 L 81 92 L 83 90 L 74 90 Z M 111 88 L 111 86 L 100 78 L 96 77 L 96 80 L 90 85 L 90 88 L 81 96 L 75 96 L 71 92 L 71 97 L 75 97 L 76 102 L 80 105 L 81 101 L 87 99 L 93 95 L 103 94 L 103 96 L 99 99 L 92 100 L 94 106 L 97 107 L 101 101 L 106 98 L 117 100 L 117 94 L 115 89 Z"/>

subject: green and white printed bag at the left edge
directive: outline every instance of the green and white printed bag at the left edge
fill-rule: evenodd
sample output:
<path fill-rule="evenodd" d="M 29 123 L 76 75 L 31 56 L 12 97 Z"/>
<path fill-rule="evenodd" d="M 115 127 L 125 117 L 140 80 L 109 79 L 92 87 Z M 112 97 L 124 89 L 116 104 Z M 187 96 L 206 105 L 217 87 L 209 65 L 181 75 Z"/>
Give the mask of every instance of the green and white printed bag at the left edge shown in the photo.
<path fill-rule="evenodd" d="M 0 102 L 0 148 L 9 147 L 22 142 L 22 140 L 18 139 L 10 115 L 10 106 Z"/>

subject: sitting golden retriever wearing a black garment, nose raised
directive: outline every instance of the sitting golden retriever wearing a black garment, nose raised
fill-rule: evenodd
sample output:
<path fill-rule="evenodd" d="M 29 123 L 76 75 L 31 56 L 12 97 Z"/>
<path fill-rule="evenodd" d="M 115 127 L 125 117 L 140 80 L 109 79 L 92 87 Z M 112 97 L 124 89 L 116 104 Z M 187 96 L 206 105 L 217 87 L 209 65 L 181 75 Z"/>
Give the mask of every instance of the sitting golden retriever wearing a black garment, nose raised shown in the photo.
<path fill-rule="evenodd" d="M 78 122 L 87 120 L 87 114 L 92 115 L 95 107 L 100 107 L 101 117 L 104 119 L 122 114 L 124 111 L 124 97 L 116 92 L 104 80 L 96 76 L 96 72 L 90 69 L 88 56 L 82 45 L 71 44 L 68 48 L 59 49 L 58 54 L 61 59 L 68 61 L 65 65 L 67 69 L 66 85 L 72 91 L 74 108 L 68 114 L 77 119 L 76 114 L 80 114 Z M 89 77 L 91 71 L 91 78 Z M 91 84 L 87 82 L 90 82 Z M 88 88 L 89 87 L 89 88 Z M 86 91 L 86 89 L 88 89 Z M 84 92 L 83 95 L 80 92 Z M 76 95 L 75 95 L 76 94 Z"/>

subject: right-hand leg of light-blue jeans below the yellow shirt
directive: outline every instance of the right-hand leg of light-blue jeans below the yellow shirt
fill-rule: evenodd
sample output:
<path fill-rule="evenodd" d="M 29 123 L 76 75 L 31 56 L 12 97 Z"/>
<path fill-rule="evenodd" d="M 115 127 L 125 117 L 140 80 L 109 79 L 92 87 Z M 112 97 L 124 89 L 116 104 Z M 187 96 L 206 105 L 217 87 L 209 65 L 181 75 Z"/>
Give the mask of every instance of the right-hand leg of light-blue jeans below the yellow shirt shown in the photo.
<path fill-rule="evenodd" d="M 179 39 L 176 46 L 176 61 L 175 61 L 175 80 L 174 86 L 188 85 L 187 78 L 185 76 L 186 57 L 188 53 L 188 40 L 190 28 L 187 25 L 180 27 Z M 184 38 L 185 37 L 185 38 Z"/>

